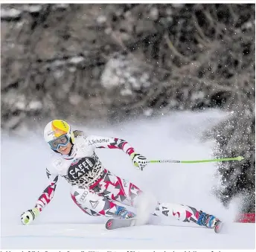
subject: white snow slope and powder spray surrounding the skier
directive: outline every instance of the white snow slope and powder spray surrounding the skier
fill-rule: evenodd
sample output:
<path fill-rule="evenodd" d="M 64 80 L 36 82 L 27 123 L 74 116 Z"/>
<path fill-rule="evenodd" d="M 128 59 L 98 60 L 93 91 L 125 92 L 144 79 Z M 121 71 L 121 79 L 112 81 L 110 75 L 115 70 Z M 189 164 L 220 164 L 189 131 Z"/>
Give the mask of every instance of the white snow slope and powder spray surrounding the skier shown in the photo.
<path fill-rule="evenodd" d="M 149 159 L 199 160 L 211 158 L 213 140 L 202 142 L 205 129 L 226 114 L 175 112 L 150 120 L 116 126 L 73 126 L 87 134 L 127 140 Z M 42 126 L 43 127 L 43 126 Z M 1 248 L 4 249 L 255 249 L 255 224 L 234 223 L 237 207 L 225 209 L 211 194 L 217 183 L 217 164 L 149 164 L 143 172 L 117 149 L 96 149 L 106 168 L 133 181 L 162 202 L 188 204 L 215 214 L 223 233 L 176 219 L 152 218 L 150 225 L 105 230 L 104 217 L 86 216 L 71 200 L 63 179 L 51 203 L 29 226 L 20 214 L 33 207 L 47 185 L 49 150 L 42 135 L 12 138 L 1 135 Z"/>

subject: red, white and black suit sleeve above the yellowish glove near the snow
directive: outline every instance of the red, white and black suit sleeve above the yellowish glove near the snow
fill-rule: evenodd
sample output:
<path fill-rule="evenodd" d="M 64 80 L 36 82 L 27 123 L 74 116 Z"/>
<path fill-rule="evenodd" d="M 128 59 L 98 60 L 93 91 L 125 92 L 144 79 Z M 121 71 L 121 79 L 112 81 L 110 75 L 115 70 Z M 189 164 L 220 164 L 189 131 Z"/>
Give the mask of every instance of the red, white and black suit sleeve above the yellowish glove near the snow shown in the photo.
<path fill-rule="evenodd" d="M 58 175 L 52 174 L 46 168 L 46 175 L 48 176 L 49 184 L 48 187 L 42 192 L 41 196 L 39 196 L 38 200 L 36 201 L 36 207 L 42 211 L 44 208 L 54 197 L 54 191 L 57 187 Z"/>

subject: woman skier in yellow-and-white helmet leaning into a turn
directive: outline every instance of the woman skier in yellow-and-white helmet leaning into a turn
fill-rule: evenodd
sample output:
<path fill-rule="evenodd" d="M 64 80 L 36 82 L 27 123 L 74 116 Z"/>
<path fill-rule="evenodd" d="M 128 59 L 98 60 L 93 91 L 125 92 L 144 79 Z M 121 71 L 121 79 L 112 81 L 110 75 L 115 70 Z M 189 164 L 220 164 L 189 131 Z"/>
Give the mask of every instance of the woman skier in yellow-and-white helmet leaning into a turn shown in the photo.
<path fill-rule="evenodd" d="M 103 167 L 95 148 L 121 149 L 132 159 L 139 170 L 147 165 L 147 158 L 135 152 L 126 140 L 95 135 L 86 136 L 71 129 L 64 120 L 52 120 L 45 126 L 44 138 L 56 153 L 46 168 L 49 185 L 36 201 L 35 207 L 22 213 L 22 224 L 30 224 L 51 201 L 59 176 L 71 184 L 71 198 L 90 216 L 106 216 L 119 219 L 135 217 L 135 213 L 119 204 L 138 207 L 142 191 L 129 181 L 114 175 Z M 171 216 L 182 222 L 194 222 L 201 226 L 217 228 L 220 222 L 215 216 L 183 204 L 158 202 L 155 216 Z"/>

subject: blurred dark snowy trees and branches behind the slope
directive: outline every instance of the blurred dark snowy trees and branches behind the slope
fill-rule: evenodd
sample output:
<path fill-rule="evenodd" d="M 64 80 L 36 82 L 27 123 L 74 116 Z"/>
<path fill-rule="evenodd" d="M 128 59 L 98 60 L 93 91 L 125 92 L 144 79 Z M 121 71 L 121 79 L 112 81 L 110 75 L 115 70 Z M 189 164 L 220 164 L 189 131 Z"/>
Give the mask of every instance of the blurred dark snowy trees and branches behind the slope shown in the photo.
<path fill-rule="evenodd" d="M 214 195 L 255 213 L 255 4 L 1 4 L 7 138 L 56 118 L 111 128 L 214 109 L 228 116 L 200 139 L 245 158 L 218 164 Z"/>

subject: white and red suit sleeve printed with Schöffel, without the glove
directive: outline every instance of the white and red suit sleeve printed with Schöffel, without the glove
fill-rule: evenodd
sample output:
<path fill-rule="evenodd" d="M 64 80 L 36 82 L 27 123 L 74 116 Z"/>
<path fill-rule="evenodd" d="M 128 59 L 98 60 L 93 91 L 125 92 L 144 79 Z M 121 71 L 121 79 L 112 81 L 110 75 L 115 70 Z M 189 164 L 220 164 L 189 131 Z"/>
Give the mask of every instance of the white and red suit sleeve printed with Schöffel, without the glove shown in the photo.
<path fill-rule="evenodd" d="M 123 152 L 127 153 L 127 155 L 132 155 L 132 153 L 135 152 L 134 148 L 129 145 L 127 140 L 120 138 L 106 138 L 90 135 L 86 140 L 89 145 L 95 148 L 121 149 Z"/>

